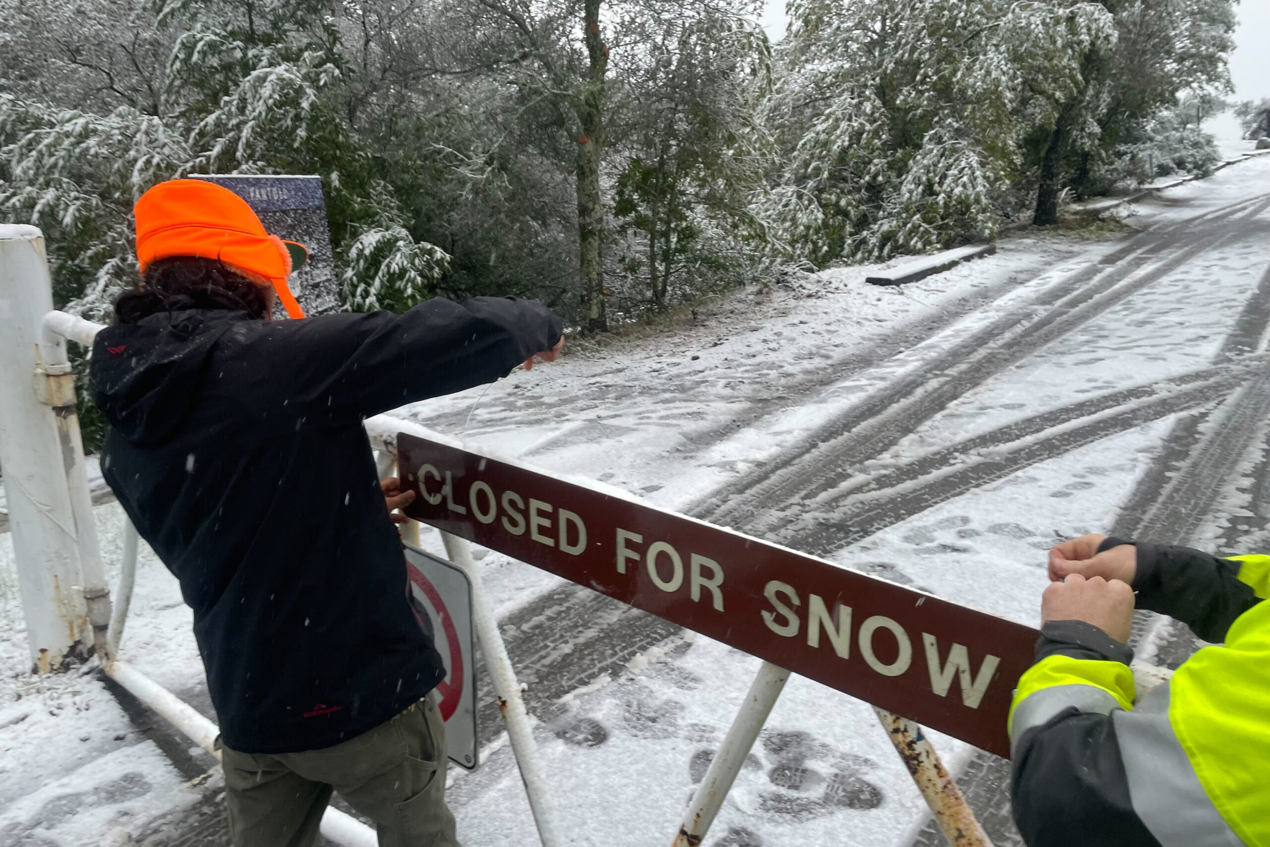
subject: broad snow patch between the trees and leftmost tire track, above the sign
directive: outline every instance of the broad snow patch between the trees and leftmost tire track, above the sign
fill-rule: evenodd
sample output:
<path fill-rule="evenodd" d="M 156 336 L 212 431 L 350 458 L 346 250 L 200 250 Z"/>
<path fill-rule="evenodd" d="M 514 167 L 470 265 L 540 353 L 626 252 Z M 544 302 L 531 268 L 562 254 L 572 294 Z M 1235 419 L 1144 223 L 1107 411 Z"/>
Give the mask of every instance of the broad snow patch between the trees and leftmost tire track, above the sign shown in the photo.
<path fill-rule="evenodd" d="M 565 359 L 541 376 L 513 373 L 395 414 L 682 508 L 1111 248 L 1110 240 L 1017 237 L 994 257 L 903 287 L 865 284 L 870 267 L 827 270 L 791 291 L 739 295 L 712 314 L 701 310 L 700 326 L 669 338 Z M 988 291 L 993 302 L 937 339 L 838 376 L 897 325 Z"/>

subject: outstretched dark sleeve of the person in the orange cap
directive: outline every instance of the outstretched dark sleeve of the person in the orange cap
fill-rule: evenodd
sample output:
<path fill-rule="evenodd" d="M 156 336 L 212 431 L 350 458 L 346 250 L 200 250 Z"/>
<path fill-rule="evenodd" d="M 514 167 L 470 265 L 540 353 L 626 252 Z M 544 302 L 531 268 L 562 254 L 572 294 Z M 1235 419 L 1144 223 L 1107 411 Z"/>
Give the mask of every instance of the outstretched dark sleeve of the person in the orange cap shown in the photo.
<path fill-rule="evenodd" d="M 542 303 L 475 297 L 429 300 L 400 315 L 323 315 L 269 324 L 250 338 L 253 395 L 309 424 L 347 422 L 493 382 L 560 340 Z M 296 418 L 298 420 L 298 418 Z"/>

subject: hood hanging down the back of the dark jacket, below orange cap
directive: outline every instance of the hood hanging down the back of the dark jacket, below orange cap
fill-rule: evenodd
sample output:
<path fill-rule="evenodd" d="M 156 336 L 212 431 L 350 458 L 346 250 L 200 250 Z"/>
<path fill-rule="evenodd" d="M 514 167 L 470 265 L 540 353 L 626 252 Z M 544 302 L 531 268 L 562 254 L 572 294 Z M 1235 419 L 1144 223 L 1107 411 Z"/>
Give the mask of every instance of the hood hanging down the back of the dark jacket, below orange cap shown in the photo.
<path fill-rule="evenodd" d="M 97 335 L 89 367 L 93 401 L 136 444 L 166 439 L 193 410 L 217 339 L 245 312 L 156 312 Z"/>

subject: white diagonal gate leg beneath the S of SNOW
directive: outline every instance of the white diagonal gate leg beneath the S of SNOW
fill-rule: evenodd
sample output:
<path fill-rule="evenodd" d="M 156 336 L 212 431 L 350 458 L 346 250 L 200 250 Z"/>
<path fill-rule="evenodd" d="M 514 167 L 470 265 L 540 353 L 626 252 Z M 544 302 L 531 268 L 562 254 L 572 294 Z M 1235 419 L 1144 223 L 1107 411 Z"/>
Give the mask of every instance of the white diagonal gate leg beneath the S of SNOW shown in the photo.
<path fill-rule="evenodd" d="M 758 676 L 745 692 L 745 701 L 737 711 L 726 738 L 723 739 L 723 747 L 710 762 L 710 770 L 701 780 L 701 787 L 692 795 L 692 804 L 683 815 L 683 824 L 674 836 L 672 847 L 697 847 L 706 837 L 789 678 L 789 670 L 771 662 L 765 662 L 758 669 Z"/>

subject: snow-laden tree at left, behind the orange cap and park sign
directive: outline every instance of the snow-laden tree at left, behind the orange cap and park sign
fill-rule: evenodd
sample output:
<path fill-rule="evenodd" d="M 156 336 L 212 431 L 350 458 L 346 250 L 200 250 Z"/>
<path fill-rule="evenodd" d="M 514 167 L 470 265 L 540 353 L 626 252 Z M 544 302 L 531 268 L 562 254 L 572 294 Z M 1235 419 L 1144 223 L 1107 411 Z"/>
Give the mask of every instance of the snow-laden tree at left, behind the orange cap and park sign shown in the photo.
<path fill-rule="evenodd" d="M 348 305 L 403 309 L 434 291 L 444 253 L 404 227 L 403 204 L 342 108 L 330 20 L 312 0 L 173 0 L 155 19 L 180 32 L 161 79 L 147 81 L 155 113 L 0 99 L 0 210 L 50 230 L 60 302 L 103 316 L 136 281 L 132 203 L 155 183 L 192 173 L 320 174 L 345 290 L 395 281 L 391 297 Z M 395 249 L 364 246 L 386 243 Z M 354 245 L 362 245 L 356 258 Z"/>

